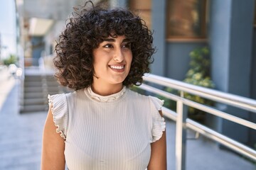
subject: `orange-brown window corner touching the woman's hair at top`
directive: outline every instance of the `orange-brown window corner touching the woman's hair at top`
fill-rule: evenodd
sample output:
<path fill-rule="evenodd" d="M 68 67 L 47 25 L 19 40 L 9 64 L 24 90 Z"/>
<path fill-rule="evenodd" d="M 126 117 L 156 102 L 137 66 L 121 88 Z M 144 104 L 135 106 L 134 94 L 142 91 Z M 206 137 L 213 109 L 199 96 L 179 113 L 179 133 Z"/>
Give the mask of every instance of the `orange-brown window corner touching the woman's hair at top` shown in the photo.
<path fill-rule="evenodd" d="M 149 29 L 151 28 L 151 0 L 129 0 L 129 8 L 146 22 Z"/>

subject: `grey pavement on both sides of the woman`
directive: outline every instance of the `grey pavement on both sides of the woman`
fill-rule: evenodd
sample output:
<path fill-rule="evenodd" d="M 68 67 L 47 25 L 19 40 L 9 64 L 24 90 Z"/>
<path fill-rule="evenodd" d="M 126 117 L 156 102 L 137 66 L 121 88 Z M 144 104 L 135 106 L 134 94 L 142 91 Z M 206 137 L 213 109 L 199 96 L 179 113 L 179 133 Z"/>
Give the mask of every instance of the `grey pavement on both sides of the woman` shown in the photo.
<path fill-rule="evenodd" d="M 6 72 L 5 72 L 6 74 Z M 36 170 L 46 112 L 18 112 L 19 82 L 0 70 L 0 170 Z M 188 137 L 194 132 L 188 130 Z M 175 123 L 166 120 L 167 165 L 175 170 Z M 256 170 L 256 164 L 200 136 L 188 140 L 186 170 Z"/>

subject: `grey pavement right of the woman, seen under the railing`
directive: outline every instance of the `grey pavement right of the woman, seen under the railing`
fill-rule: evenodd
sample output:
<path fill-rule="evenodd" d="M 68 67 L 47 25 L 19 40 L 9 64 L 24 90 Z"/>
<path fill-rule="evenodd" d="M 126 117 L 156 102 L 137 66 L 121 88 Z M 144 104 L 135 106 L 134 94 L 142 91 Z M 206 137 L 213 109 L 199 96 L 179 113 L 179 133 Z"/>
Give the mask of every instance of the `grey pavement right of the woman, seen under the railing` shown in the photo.
<path fill-rule="evenodd" d="M 168 170 L 175 169 L 175 123 L 166 122 Z M 187 131 L 193 138 L 195 132 Z M 214 142 L 200 136 L 197 140 L 187 140 L 186 170 L 256 170 L 256 164 L 243 159 L 233 152 L 220 149 Z"/>

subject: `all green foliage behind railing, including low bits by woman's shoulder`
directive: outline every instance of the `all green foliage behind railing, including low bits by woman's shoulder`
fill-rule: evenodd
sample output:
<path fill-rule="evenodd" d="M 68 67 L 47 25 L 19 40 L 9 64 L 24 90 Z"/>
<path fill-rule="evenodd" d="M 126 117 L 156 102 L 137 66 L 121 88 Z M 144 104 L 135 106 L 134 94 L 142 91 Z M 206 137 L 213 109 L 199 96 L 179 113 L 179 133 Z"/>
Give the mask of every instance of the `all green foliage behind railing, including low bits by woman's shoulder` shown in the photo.
<path fill-rule="evenodd" d="M 203 86 L 210 89 L 215 87 L 212 79 L 210 79 L 210 57 L 209 50 L 207 47 L 197 48 L 190 52 L 189 56 L 191 57 L 191 62 L 189 63 L 190 69 L 186 73 L 186 78 L 183 80 L 188 84 L 193 84 L 196 86 Z M 137 89 L 137 87 L 132 87 L 134 91 L 139 91 L 140 93 L 144 93 L 142 89 Z M 181 91 L 171 89 L 169 87 L 164 88 L 164 91 L 169 92 L 170 94 L 174 94 L 176 96 L 181 95 Z M 195 96 L 188 93 L 183 93 L 184 98 L 188 98 L 191 101 L 196 101 L 197 103 L 202 103 L 204 105 L 213 106 L 213 101 L 210 101 L 206 98 L 201 98 L 200 96 Z M 156 97 L 164 100 L 164 106 L 166 108 L 171 109 L 172 111 L 176 111 L 176 101 L 172 101 L 169 98 L 165 98 L 160 95 L 156 95 Z M 203 111 L 200 111 L 196 108 L 188 107 L 188 118 L 193 120 L 198 120 L 203 123 L 205 119 L 205 114 Z"/>

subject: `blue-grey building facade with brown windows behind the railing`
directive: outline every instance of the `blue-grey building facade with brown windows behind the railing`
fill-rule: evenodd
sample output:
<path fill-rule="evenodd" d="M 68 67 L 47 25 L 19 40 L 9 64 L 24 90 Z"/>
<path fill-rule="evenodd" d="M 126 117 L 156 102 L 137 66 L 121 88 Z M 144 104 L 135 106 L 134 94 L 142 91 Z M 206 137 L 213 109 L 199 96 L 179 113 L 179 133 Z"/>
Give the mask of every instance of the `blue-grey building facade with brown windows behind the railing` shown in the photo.
<path fill-rule="evenodd" d="M 189 53 L 208 47 L 215 89 L 256 99 L 255 0 L 144 1 L 147 4 L 135 0 L 120 4 L 147 14 L 144 18 L 154 30 L 157 47 L 153 74 L 182 81 L 189 69 Z M 255 113 L 218 107 L 256 123 Z M 213 116 L 208 116 L 207 122 L 228 137 L 251 147 L 256 144 L 255 130 Z"/>

